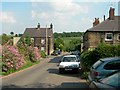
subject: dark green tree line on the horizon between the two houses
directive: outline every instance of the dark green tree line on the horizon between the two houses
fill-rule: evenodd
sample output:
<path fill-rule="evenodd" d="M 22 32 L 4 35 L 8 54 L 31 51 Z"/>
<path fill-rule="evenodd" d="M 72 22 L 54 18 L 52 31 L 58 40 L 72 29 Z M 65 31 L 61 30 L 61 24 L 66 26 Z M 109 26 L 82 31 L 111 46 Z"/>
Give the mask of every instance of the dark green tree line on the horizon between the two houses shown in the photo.
<path fill-rule="evenodd" d="M 54 38 L 58 37 L 81 37 L 84 32 L 63 32 L 63 33 L 54 33 Z"/>

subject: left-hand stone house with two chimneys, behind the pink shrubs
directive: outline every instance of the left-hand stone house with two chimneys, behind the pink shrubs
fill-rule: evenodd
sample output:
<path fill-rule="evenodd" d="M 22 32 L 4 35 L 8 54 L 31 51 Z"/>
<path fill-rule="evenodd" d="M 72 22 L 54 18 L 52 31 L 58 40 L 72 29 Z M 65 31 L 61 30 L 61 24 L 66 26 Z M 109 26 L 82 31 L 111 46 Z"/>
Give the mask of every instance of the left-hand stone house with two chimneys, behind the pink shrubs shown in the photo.
<path fill-rule="evenodd" d="M 40 50 L 45 51 L 46 55 L 50 55 L 53 52 L 53 25 L 50 27 L 41 28 L 38 23 L 37 28 L 26 28 L 23 38 L 29 37 L 33 41 L 34 47 L 38 47 Z"/>

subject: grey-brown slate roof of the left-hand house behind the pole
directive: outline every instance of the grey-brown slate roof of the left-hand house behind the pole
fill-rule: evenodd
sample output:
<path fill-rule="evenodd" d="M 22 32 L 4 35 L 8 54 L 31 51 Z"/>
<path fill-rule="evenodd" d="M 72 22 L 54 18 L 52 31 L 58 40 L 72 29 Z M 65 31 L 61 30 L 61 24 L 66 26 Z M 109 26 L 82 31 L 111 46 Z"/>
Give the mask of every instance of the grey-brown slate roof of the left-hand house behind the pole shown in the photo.
<path fill-rule="evenodd" d="M 47 28 L 47 37 L 52 35 L 52 29 Z M 46 28 L 26 28 L 22 37 L 46 37 Z"/>

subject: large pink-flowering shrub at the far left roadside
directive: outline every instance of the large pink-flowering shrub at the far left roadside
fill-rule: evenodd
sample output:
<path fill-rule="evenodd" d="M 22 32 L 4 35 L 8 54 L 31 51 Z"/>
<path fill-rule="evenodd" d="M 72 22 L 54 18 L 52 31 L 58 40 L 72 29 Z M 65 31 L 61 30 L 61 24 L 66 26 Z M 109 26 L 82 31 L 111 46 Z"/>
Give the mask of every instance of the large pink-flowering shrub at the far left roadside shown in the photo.
<path fill-rule="evenodd" d="M 2 71 L 9 73 L 19 69 L 24 64 L 23 55 L 16 46 L 2 47 Z"/>

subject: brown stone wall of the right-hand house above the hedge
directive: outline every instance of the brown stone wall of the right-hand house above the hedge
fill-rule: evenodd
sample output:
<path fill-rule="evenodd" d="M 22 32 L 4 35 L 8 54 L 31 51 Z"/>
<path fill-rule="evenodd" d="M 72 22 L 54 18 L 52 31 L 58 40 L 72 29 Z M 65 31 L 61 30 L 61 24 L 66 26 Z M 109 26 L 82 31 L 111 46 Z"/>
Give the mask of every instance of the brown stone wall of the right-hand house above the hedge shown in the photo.
<path fill-rule="evenodd" d="M 113 41 L 105 41 L 105 33 L 108 32 L 86 32 L 83 39 L 83 51 L 93 50 L 99 43 L 120 45 L 120 40 L 118 40 L 118 32 L 112 32 Z"/>

